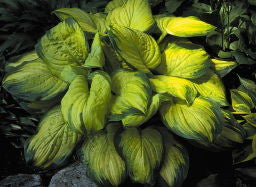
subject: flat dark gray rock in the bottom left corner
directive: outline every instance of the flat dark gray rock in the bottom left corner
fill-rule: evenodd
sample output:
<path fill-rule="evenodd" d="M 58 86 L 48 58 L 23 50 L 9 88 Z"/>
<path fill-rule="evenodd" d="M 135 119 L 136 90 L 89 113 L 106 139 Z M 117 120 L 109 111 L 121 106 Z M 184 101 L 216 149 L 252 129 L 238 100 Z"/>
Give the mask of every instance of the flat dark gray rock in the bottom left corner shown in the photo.
<path fill-rule="evenodd" d="M 42 187 L 40 175 L 18 174 L 8 176 L 0 181 L 1 187 Z"/>

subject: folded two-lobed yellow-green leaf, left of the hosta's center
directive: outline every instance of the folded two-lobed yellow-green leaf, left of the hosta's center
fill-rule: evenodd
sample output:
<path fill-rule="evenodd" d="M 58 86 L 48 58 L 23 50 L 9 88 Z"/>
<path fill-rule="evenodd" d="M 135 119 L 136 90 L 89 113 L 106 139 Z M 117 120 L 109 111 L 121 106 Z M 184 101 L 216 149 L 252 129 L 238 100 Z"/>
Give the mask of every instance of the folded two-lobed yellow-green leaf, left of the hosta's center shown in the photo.
<path fill-rule="evenodd" d="M 87 79 L 77 76 L 61 101 L 64 119 L 70 127 L 80 133 L 88 134 L 104 128 L 111 100 L 110 77 L 96 71 L 91 75 L 90 90 Z"/>

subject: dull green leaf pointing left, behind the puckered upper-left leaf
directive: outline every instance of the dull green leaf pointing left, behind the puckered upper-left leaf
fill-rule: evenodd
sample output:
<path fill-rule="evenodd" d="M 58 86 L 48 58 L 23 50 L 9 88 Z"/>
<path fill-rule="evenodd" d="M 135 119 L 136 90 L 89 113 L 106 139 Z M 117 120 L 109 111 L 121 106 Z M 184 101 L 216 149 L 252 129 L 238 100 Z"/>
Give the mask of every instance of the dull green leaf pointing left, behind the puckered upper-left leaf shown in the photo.
<path fill-rule="evenodd" d="M 73 18 L 85 32 L 104 34 L 107 30 L 105 15 L 101 13 L 89 14 L 79 8 L 60 8 L 53 11 L 61 21 Z"/>

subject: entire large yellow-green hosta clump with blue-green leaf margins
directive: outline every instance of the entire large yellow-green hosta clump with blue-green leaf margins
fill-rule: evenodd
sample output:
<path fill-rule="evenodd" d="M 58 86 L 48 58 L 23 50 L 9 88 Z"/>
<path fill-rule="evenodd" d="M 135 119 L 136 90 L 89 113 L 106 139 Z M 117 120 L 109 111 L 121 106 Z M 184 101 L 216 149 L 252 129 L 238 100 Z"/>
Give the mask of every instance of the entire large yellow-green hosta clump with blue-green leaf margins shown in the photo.
<path fill-rule="evenodd" d="M 211 147 L 232 125 L 221 77 L 236 63 L 213 59 L 189 40 L 215 27 L 152 15 L 147 0 L 113 0 L 94 14 L 53 13 L 61 22 L 8 64 L 3 80 L 23 108 L 43 114 L 26 160 L 57 167 L 78 149 L 99 185 L 129 177 L 180 186 L 188 154 L 175 136 Z"/>

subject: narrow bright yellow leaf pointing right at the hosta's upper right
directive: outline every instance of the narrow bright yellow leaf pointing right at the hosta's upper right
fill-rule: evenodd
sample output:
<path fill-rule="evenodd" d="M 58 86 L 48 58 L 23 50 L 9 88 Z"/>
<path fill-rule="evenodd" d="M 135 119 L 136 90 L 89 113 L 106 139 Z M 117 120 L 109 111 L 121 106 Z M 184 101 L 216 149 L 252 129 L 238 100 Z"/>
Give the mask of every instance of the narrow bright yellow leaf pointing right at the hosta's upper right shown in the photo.
<path fill-rule="evenodd" d="M 206 36 L 216 28 L 194 16 L 163 17 L 157 22 L 159 29 L 162 30 L 163 33 L 166 32 L 179 37 Z"/>

